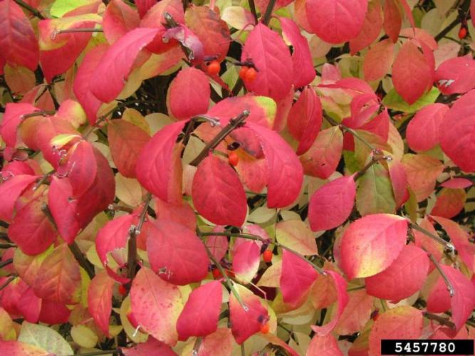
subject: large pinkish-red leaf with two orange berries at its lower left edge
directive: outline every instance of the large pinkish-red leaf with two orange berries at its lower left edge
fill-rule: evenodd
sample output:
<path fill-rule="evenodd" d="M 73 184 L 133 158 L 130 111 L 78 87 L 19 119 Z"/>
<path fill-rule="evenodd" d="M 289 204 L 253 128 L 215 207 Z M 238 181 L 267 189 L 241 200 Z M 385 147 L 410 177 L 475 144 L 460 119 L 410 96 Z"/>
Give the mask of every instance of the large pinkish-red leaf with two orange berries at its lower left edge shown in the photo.
<path fill-rule="evenodd" d="M 293 83 L 291 53 L 278 33 L 258 23 L 243 47 L 241 61 L 252 58 L 257 72 L 252 81 L 244 80 L 246 89 L 258 95 L 283 99 Z"/>

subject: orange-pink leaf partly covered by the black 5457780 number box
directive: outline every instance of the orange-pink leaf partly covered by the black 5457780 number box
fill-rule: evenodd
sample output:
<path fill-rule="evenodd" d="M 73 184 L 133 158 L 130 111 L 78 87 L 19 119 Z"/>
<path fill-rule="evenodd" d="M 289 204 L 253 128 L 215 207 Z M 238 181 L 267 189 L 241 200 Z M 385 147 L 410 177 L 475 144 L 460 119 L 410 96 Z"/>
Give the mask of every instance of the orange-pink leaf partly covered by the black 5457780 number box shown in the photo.
<path fill-rule="evenodd" d="M 409 306 L 387 310 L 370 331 L 368 355 L 381 355 L 382 339 L 419 339 L 422 335 L 422 311 Z"/>

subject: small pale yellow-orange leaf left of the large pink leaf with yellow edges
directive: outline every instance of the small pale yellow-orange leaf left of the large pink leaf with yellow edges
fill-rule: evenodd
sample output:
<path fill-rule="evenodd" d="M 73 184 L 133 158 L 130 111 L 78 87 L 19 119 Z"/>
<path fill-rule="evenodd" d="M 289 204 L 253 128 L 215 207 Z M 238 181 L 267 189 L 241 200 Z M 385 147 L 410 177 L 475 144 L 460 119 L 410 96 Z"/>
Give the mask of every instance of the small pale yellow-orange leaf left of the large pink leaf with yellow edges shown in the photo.
<path fill-rule="evenodd" d="M 318 254 L 315 235 L 299 219 L 280 221 L 276 224 L 276 239 L 280 244 L 302 255 Z"/>

